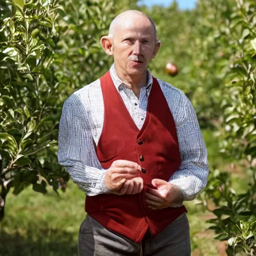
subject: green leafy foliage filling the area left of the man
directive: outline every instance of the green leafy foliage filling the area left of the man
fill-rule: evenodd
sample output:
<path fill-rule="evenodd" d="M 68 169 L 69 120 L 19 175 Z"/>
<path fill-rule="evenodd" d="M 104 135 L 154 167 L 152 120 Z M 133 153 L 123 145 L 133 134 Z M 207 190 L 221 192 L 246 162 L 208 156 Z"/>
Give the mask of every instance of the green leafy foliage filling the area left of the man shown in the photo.
<path fill-rule="evenodd" d="M 78 7 L 79 6 L 79 7 Z M 11 187 L 61 186 L 57 163 L 63 100 L 107 68 L 99 36 L 113 1 L 11 0 L 0 29 L 0 219 Z M 9 11 L 7 11 L 9 10 Z"/>

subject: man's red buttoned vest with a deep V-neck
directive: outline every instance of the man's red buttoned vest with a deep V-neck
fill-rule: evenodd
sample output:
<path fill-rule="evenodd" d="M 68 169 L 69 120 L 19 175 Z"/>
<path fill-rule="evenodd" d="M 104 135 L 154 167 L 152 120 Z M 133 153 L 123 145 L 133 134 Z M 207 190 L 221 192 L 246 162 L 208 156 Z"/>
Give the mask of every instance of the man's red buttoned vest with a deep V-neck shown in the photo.
<path fill-rule="evenodd" d="M 104 100 L 104 123 L 96 154 L 104 169 L 117 159 L 137 162 L 144 189 L 133 195 L 98 194 L 86 196 L 85 210 L 101 225 L 140 242 L 148 229 L 153 236 L 181 213 L 184 206 L 152 210 L 145 204 L 145 189 L 151 180 L 168 181 L 180 165 L 175 123 L 155 78 L 148 97 L 144 124 L 139 130 L 132 120 L 109 71 L 100 77 Z"/>

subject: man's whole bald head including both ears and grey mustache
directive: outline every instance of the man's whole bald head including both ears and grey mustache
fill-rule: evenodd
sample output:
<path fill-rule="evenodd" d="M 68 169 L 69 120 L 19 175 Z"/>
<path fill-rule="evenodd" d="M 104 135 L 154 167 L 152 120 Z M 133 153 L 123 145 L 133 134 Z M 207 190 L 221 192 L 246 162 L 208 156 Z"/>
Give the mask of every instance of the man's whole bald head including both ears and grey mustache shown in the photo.
<path fill-rule="evenodd" d="M 100 44 L 106 54 L 113 56 L 119 77 L 134 79 L 146 75 L 161 43 L 152 19 L 141 11 L 128 10 L 113 19 L 109 34 L 101 37 Z"/>

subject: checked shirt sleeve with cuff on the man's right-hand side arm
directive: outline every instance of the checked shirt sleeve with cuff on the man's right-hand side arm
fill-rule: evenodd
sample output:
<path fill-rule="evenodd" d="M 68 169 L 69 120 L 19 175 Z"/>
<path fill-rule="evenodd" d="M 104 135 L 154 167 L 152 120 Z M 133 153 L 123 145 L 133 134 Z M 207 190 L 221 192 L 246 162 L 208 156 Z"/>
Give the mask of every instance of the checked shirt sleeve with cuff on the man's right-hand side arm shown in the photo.
<path fill-rule="evenodd" d="M 183 118 L 176 124 L 181 164 L 172 174 L 169 182 L 180 188 L 184 200 L 192 200 L 205 186 L 208 177 L 208 161 L 205 142 L 200 131 L 196 113 L 189 99 L 180 105 Z M 177 207 L 182 205 L 172 205 Z"/>

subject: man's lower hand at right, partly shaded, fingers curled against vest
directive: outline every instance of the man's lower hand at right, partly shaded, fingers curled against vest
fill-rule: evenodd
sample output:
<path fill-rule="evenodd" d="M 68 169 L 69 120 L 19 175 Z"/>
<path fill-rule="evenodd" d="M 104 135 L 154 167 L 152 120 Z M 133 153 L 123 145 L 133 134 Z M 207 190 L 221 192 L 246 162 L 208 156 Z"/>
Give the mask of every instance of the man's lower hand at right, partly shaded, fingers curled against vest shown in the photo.
<path fill-rule="evenodd" d="M 152 185 L 155 189 L 148 188 L 145 192 L 148 208 L 153 210 L 163 209 L 169 207 L 172 203 L 183 201 L 183 193 L 177 186 L 158 178 L 152 179 Z"/>

